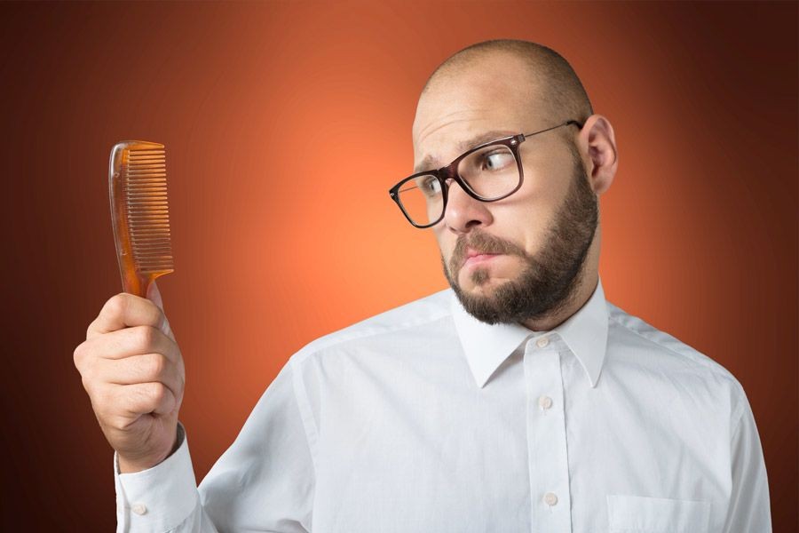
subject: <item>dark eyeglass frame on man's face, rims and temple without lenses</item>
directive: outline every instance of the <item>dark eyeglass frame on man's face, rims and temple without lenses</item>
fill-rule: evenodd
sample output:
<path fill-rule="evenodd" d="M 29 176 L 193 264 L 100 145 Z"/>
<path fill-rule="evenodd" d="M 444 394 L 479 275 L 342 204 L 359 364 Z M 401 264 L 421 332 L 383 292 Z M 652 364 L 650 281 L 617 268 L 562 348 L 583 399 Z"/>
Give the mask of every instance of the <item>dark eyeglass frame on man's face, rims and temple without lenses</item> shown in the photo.
<path fill-rule="evenodd" d="M 420 229 L 435 226 L 441 221 L 441 219 L 444 218 L 444 213 L 447 212 L 447 191 L 449 190 L 449 187 L 447 187 L 447 179 L 452 179 L 453 181 L 455 181 L 455 183 L 457 183 L 458 185 L 461 186 L 461 188 L 463 188 L 463 190 L 466 192 L 467 195 L 470 195 L 472 198 L 478 200 L 479 202 L 496 202 L 497 200 L 502 200 L 502 198 L 507 198 L 508 196 L 518 191 L 518 189 L 522 186 L 522 183 L 524 183 L 525 181 L 525 171 L 521 162 L 521 157 L 519 157 L 518 155 L 518 146 L 521 143 L 523 143 L 525 139 L 527 139 L 528 137 L 533 137 L 534 135 L 538 135 L 539 133 L 544 133 L 546 131 L 554 130 L 556 128 L 560 128 L 563 126 L 568 126 L 570 124 L 574 124 L 580 129 L 582 129 L 583 126 L 583 123 L 581 122 L 578 122 L 576 120 L 568 120 L 565 123 L 559 123 L 558 125 L 550 126 L 549 128 L 546 128 L 541 131 L 534 131 L 533 133 L 518 133 L 517 135 L 509 135 L 508 137 L 502 137 L 501 139 L 494 139 L 481 143 L 476 147 L 470 148 L 463 154 L 458 155 L 455 158 L 455 160 L 452 163 L 447 164 L 447 166 L 443 166 L 437 170 L 416 172 L 415 174 L 408 176 L 406 179 L 402 179 L 397 185 L 389 189 L 389 195 L 391 195 L 392 200 L 395 203 L 397 203 L 397 205 L 399 206 L 399 211 L 402 211 L 402 214 L 405 215 L 407 221 L 410 222 L 411 225 L 413 225 L 414 227 L 418 227 Z M 469 186 L 469 184 L 466 183 L 466 181 L 458 175 L 458 164 L 461 163 L 464 157 L 467 157 L 468 155 L 478 151 L 479 149 L 495 145 L 502 145 L 505 147 L 509 147 L 510 152 L 516 158 L 516 164 L 518 165 L 518 185 L 516 186 L 516 188 L 514 188 L 512 191 L 510 191 L 510 193 L 506 195 L 497 196 L 495 198 L 486 198 L 484 196 L 478 195 Z M 436 179 L 439 180 L 439 184 L 441 185 L 441 202 L 442 202 L 441 215 L 434 222 L 430 222 L 428 224 L 416 224 L 414 220 L 410 218 L 410 215 L 407 214 L 407 211 L 405 211 L 405 208 L 402 207 L 402 203 L 399 201 L 399 187 L 402 187 L 408 181 L 419 178 L 420 176 L 434 176 Z"/>

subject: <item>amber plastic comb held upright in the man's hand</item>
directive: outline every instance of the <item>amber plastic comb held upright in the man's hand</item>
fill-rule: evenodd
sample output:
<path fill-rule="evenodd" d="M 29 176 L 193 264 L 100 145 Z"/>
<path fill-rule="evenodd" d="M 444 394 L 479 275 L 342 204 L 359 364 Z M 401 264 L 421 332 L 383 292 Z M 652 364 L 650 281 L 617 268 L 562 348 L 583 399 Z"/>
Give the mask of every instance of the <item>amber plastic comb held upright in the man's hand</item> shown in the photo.
<path fill-rule="evenodd" d="M 155 278 L 175 270 L 163 145 L 117 143 L 111 150 L 108 186 L 123 290 L 145 298 Z"/>

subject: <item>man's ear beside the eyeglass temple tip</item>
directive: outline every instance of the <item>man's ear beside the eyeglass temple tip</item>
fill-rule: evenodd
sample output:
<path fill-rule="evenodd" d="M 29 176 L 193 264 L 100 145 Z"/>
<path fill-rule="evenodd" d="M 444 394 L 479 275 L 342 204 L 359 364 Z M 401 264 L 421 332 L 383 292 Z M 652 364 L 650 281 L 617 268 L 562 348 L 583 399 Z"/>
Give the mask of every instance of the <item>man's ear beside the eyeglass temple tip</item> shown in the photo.
<path fill-rule="evenodd" d="M 610 188 L 619 165 L 613 126 L 602 115 L 590 115 L 582 126 L 577 143 L 583 159 L 588 156 L 591 188 L 601 195 Z"/>

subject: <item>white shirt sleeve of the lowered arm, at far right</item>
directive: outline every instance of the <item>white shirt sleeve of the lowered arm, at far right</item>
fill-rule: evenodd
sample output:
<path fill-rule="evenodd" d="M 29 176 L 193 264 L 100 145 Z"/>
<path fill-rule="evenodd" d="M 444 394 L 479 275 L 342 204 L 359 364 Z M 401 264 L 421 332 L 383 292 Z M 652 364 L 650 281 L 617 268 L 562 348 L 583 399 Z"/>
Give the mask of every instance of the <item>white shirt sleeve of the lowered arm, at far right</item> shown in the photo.
<path fill-rule="evenodd" d="M 724 532 L 770 533 L 771 507 L 763 449 L 743 389 L 740 394 L 740 416 L 732 431 L 732 493 Z"/>

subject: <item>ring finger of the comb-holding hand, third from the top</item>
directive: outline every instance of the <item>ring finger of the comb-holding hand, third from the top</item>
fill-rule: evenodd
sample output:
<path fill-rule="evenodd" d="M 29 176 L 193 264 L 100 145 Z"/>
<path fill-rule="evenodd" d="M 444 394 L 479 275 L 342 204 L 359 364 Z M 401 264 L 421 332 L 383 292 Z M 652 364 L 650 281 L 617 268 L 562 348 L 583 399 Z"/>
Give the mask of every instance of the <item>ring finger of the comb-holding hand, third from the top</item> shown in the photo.
<path fill-rule="evenodd" d="M 141 354 L 118 361 L 98 361 L 95 377 L 113 385 L 162 383 L 175 398 L 181 398 L 184 377 L 178 364 L 162 354 Z"/>

